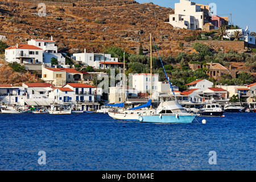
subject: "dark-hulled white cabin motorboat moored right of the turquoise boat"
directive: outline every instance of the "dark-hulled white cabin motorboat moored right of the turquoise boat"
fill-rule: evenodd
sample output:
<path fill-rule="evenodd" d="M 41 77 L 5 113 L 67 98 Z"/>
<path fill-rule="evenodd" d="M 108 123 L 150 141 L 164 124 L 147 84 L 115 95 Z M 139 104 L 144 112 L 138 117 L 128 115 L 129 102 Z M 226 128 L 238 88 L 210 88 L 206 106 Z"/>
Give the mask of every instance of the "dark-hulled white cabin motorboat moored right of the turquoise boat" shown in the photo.
<path fill-rule="evenodd" d="M 199 116 L 222 117 L 224 110 L 218 104 L 205 104 L 199 111 Z"/>

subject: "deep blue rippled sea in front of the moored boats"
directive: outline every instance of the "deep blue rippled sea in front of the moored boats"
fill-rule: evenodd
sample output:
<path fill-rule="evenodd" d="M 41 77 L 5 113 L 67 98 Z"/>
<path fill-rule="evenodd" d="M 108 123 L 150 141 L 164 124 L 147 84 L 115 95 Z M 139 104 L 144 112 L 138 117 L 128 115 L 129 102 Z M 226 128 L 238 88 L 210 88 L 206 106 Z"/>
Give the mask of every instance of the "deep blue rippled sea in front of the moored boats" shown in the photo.
<path fill-rule="evenodd" d="M 196 119 L 156 124 L 104 113 L 0 114 L 0 170 L 256 169 L 256 113 Z M 39 151 L 46 164 L 38 163 Z"/>

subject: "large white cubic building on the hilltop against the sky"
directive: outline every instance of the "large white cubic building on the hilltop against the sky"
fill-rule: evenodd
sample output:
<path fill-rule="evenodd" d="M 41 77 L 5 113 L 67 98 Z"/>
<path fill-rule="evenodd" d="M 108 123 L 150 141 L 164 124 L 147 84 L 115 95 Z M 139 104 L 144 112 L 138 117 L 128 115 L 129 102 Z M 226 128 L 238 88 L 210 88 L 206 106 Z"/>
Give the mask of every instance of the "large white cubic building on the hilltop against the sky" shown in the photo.
<path fill-rule="evenodd" d="M 190 0 L 180 0 L 175 3 L 175 14 L 171 14 L 169 22 L 175 28 L 186 28 L 196 30 L 203 29 L 205 23 L 209 22 L 208 5 L 198 5 Z"/>

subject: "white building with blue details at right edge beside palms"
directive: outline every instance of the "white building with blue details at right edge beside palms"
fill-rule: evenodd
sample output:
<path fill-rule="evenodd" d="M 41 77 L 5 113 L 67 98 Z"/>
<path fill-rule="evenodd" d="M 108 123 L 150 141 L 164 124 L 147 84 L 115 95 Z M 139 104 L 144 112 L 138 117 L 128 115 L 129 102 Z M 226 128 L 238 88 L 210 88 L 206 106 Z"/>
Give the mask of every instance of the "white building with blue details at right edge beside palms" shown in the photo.
<path fill-rule="evenodd" d="M 240 29 L 226 30 L 228 35 L 224 35 L 223 37 L 230 40 L 230 39 L 232 39 L 232 34 L 234 33 L 234 31 L 240 31 L 242 33 L 242 37 L 240 38 L 240 40 L 244 40 L 245 42 L 247 42 L 249 44 L 255 44 L 255 37 L 250 36 L 250 31 L 248 29 L 249 28 L 247 26 L 246 29 L 240 28 Z"/>

